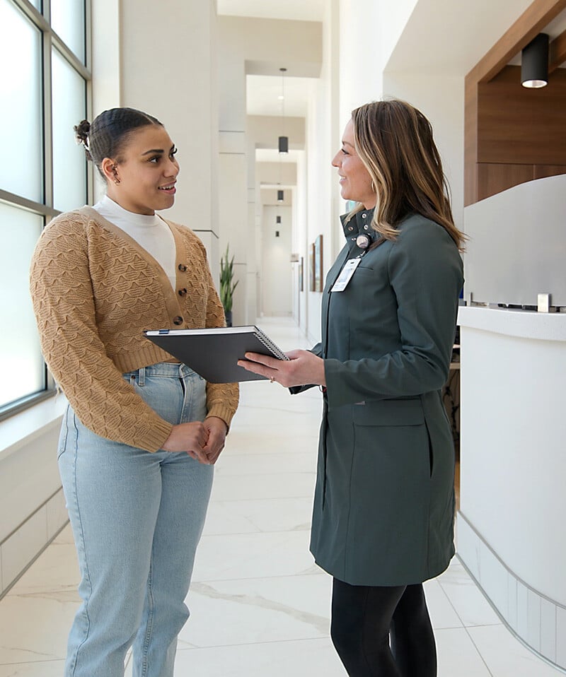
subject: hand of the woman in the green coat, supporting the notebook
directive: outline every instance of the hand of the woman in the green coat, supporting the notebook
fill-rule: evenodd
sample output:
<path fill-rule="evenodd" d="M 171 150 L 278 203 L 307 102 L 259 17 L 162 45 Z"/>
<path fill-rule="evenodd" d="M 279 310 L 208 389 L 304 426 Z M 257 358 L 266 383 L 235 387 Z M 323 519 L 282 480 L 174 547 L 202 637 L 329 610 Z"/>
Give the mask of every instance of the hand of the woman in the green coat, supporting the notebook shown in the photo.
<path fill-rule="evenodd" d="M 277 360 L 260 353 L 246 353 L 246 360 L 238 360 L 238 366 L 248 372 L 266 376 L 270 381 L 286 388 L 303 385 L 326 385 L 324 360 L 310 351 L 289 351 L 289 360 Z M 249 362 L 248 360 L 252 360 Z"/>

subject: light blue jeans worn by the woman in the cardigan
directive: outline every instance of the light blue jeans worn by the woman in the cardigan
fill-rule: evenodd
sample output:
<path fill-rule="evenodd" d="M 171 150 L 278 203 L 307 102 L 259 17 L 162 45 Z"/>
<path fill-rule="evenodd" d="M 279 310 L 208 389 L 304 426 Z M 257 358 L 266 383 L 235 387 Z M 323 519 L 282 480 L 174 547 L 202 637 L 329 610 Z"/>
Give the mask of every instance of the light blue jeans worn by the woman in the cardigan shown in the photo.
<path fill-rule="evenodd" d="M 124 377 L 171 423 L 206 415 L 206 384 L 185 365 L 161 363 Z M 213 466 L 106 440 L 71 408 L 58 453 L 83 600 L 65 677 L 123 677 L 132 644 L 134 677 L 173 677 Z"/>

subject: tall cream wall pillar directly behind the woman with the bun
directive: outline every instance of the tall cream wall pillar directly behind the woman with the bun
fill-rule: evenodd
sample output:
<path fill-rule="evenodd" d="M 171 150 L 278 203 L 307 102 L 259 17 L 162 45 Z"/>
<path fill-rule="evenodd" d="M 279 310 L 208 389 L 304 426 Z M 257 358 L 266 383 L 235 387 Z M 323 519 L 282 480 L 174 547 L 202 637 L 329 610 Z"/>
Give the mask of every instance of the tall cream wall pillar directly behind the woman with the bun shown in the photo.
<path fill-rule="evenodd" d="M 174 15 L 154 0 L 120 3 L 120 105 L 158 117 L 179 148 L 175 206 L 164 216 L 197 232 L 213 271 L 219 261 L 216 46 L 214 0 L 175 3 Z"/>

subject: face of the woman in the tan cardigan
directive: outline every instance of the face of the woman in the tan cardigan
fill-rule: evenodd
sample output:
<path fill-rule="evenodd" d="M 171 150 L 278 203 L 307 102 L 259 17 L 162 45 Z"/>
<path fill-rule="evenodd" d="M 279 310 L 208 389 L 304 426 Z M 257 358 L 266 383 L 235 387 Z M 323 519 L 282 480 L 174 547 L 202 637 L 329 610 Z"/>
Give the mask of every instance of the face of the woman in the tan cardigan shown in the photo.
<path fill-rule="evenodd" d="M 108 197 L 137 214 L 154 214 L 175 202 L 179 163 L 166 129 L 149 124 L 129 135 L 118 158 L 105 158 Z"/>

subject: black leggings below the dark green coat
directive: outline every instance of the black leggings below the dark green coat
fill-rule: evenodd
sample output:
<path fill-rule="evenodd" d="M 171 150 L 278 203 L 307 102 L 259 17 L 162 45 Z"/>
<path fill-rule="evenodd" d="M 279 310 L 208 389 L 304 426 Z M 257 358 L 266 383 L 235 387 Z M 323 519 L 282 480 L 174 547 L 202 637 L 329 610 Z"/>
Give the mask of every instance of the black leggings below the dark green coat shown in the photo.
<path fill-rule="evenodd" d="M 437 675 L 422 584 L 374 587 L 334 579 L 330 635 L 350 677 Z"/>

